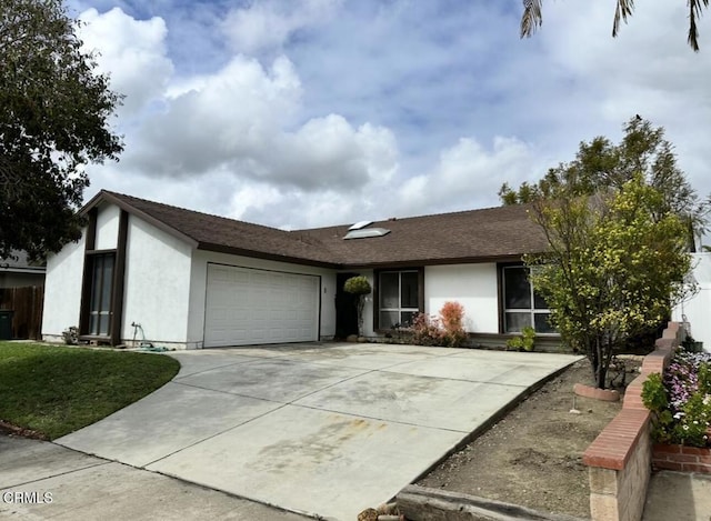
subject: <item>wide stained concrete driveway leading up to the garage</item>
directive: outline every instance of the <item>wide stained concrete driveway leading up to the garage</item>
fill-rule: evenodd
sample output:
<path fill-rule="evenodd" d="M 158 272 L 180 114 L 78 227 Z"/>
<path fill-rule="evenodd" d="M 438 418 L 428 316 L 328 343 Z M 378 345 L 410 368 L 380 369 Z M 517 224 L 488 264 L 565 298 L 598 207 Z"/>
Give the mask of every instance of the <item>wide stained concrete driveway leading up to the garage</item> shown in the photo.
<path fill-rule="evenodd" d="M 580 358 L 346 343 L 171 355 L 173 381 L 57 443 L 343 521 Z"/>

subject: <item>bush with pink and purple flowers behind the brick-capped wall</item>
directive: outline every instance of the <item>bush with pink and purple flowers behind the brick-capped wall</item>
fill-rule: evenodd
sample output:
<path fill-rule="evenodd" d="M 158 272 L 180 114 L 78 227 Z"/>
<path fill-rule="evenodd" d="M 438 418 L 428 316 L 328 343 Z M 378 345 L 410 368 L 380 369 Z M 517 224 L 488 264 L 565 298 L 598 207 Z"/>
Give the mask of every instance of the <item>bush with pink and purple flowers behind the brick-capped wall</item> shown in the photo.
<path fill-rule="evenodd" d="M 652 411 L 655 441 L 711 447 L 711 354 L 677 353 L 663 378 L 649 375 L 642 402 Z"/>

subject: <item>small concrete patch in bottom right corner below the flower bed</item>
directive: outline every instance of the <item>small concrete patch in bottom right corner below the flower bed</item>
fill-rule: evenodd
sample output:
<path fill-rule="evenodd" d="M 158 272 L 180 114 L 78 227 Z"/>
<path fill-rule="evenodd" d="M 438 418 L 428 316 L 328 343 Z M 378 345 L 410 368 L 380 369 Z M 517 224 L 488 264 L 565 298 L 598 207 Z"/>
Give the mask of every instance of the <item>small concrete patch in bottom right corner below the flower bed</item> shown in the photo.
<path fill-rule="evenodd" d="M 669 520 L 711 520 L 711 475 L 667 470 L 652 474 L 642 521 Z"/>

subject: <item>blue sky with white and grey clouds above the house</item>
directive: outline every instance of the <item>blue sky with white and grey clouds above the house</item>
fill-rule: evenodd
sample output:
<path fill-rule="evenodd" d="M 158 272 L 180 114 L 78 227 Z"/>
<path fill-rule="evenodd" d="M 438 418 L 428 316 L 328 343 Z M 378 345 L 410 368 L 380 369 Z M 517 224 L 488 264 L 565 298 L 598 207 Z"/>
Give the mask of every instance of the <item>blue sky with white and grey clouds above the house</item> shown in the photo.
<path fill-rule="evenodd" d="M 91 188 L 284 229 L 498 206 L 639 113 L 711 192 L 711 12 L 683 0 L 71 0 L 126 96 Z M 650 4 L 651 3 L 651 4 Z"/>

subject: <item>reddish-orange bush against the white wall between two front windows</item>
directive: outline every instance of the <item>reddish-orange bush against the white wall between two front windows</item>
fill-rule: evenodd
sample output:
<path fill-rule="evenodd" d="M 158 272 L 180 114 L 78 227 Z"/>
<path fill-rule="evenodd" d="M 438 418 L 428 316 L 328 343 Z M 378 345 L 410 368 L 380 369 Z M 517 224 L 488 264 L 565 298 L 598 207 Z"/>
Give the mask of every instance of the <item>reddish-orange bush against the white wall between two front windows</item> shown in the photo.
<path fill-rule="evenodd" d="M 439 317 L 418 313 L 412 320 L 412 342 L 418 345 L 458 348 L 467 340 L 464 308 L 459 302 L 444 302 Z"/>

